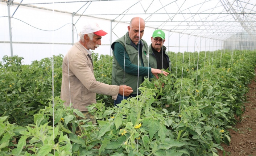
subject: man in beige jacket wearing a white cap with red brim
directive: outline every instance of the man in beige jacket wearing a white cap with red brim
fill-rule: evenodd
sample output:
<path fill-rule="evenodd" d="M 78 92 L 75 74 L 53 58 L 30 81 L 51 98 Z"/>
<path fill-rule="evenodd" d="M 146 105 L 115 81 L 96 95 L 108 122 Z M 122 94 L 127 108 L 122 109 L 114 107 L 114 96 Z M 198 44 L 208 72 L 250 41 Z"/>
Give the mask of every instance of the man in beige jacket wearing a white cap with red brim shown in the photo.
<path fill-rule="evenodd" d="M 127 85 L 108 85 L 94 77 L 90 49 L 99 47 L 106 34 L 97 23 L 87 23 L 79 34 L 79 42 L 71 47 L 62 62 L 61 99 L 65 101 L 64 105 L 72 103 L 93 123 L 96 123 L 95 118 L 88 115 L 86 106 L 96 103 L 96 93 L 111 95 L 116 100 L 117 94 L 129 96 L 133 92 Z"/>

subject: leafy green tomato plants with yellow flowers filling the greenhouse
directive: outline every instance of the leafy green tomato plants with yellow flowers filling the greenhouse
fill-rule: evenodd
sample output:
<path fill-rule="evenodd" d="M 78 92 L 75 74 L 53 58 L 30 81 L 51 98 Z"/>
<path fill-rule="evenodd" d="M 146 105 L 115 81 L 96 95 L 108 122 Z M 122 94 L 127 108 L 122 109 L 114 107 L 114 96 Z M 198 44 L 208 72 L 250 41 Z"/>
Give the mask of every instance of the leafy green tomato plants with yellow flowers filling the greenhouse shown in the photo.
<path fill-rule="evenodd" d="M 54 57 L 59 61 L 56 65 L 54 63 L 53 71 L 60 70 L 58 76 L 53 76 L 54 89 L 51 88 L 52 69 L 49 69 L 51 58 L 33 62 L 34 67 L 33 63 L 24 66 L 15 62 L 20 60 L 17 56 L 16 59 L 7 57 L 14 60 L 4 59 L 7 61 L 0 66 L 8 77 L 3 75 L 0 78 L 8 80 L 7 85 L 12 85 L 9 84 L 12 82 L 16 85 L 21 78 L 30 77 L 25 82 L 31 87 L 26 92 L 23 87 L 29 85 L 22 82 L 15 89 L 10 86 L 0 88 L 0 155 L 216 156 L 217 149 L 223 150 L 220 143 L 230 142 L 227 129 L 236 122 L 234 114 L 239 117 L 245 110 L 244 94 L 248 91 L 247 84 L 255 76 L 254 54 L 255 51 L 170 53 L 170 76 L 151 81 L 146 79 L 139 88 L 139 96 L 113 107 L 111 97 L 98 95 L 98 103 L 88 107 L 95 115 L 97 125 L 88 120 L 78 121 L 74 113 L 83 117 L 79 110 L 63 107 L 63 101 L 58 97 L 62 56 Z M 206 59 L 214 55 L 216 58 Z M 196 63 L 191 56 L 197 56 L 194 57 Z M 103 55 L 93 58 L 96 79 L 110 84 L 112 58 Z M 22 69 L 29 67 L 31 72 L 26 71 L 27 75 L 21 77 Z M 49 81 L 35 84 L 29 81 L 33 77 L 28 73 L 35 77 L 39 73 Z M 36 95 L 41 96 L 40 93 L 44 92 L 42 96 L 45 97 L 41 102 L 38 97 L 39 102 L 31 100 L 29 103 L 29 98 L 35 98 L 33 89 L 36 88 L 40 89 L 35 91 Z M 52 90 L 57 95 L 54 110 Z M 18 99 L 19 96 L 22 98 Z M 13 106 L 15 100 L 23 106 Z M 13 110 L 9 110 L 11 106 Z M 25 115 L 19 119 L 16 111 Z M 28 118 L 30 121 L 24 123 Z M 75 134 L 76 127 L 80 127 L 82 135 Z"/>

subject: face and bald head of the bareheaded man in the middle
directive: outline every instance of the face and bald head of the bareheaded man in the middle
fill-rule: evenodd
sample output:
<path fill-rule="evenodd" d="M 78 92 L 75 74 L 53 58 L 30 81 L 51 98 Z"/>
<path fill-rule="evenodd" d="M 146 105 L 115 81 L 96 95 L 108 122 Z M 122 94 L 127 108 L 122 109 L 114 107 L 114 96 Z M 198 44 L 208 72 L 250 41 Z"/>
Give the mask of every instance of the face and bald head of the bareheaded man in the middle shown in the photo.
<path fill-rule="evenodd" d="M 129 37 L 131 38 L 132 42 L 135 43 L 136 45 L 141 40 L 144 34 L 144 29 L 145 29 L 145 23 L 144 21 L 141 20 L 139 25 L 139 19 L 134 20 L 131 26 L 128 26 Z"/>

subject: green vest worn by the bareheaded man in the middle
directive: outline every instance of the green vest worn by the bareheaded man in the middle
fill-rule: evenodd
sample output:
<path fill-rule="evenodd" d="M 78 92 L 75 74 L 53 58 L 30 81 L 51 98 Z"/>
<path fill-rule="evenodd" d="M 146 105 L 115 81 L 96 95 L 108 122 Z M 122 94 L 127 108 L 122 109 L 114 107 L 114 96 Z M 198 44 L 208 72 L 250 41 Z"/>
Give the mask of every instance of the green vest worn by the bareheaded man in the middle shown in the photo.
<path fill-rule="evenodd" d="M 135 64 L 137 66 L 139 52 L 135 47 L 133 47 L 131 45 L 131 39 L 129 38 L 128 32 L 126 33 L 126 35 L 117 39 L 115 42 L 119 42 L 119 43 L 121 43 L 121 45 L 123 45 L 125 47 L 125 52 L 127 52 L 131 63 Z M 111 48 L 113 51 L 114 51 L 115 42 L 113 42 L 111 45 Z M 143 43 L 142 59 L 143 59 L 144 67 L 148 67 L 148 60 L 146 59 L 148 45 L 143 39 L 141 39 L 141 42 Z M 112 53 L 113 53 L 112 85 L 123 85 L 123 84 L 128 85 L 128 86 L 132 87 L 132 90 L 133 90 L 132 94 L 137 94 L 138 93 L 138 89 L 137 89 L 138 76 L 130 75 L 130 74 L 124 72 L 123 68 L 117 62 L 118 58 L 116 58 L 114 52 L 112 52 Z M 142 66 L 141 61 L 139 61 L 139 66 Z M 142 83 L 142 78 L 143 78 L 143 76 L 139 76 L 139 85 Z"/>

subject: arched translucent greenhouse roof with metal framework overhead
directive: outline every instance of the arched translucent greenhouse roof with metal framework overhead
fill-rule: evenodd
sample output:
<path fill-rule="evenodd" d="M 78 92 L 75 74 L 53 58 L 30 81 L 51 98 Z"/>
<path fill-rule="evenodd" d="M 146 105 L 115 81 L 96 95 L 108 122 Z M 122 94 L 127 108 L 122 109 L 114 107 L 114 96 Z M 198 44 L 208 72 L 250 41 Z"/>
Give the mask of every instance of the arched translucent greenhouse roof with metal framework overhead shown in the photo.
<path fill-rule="evenodd" d="M 256 29 L 255 0 L 14 0 L 18 5 L 116 24 L 140 16 L 147 27 L 219 40 L 243 31 L 255 36 Z"/>

